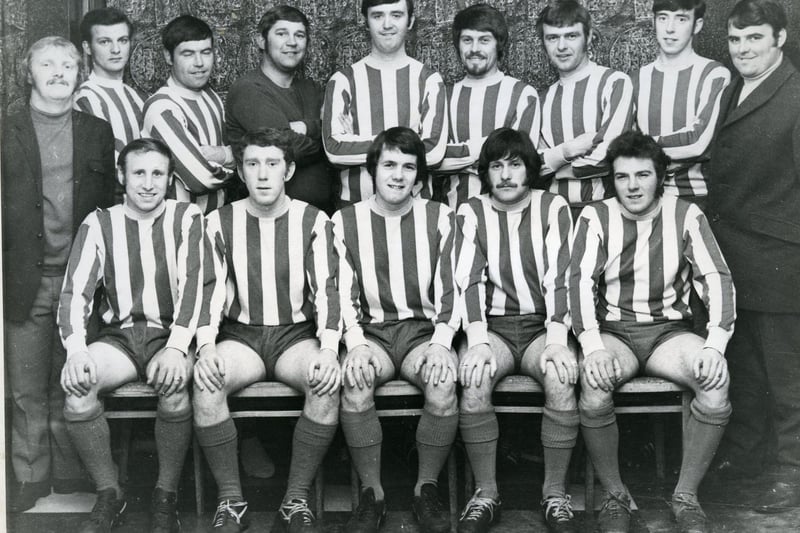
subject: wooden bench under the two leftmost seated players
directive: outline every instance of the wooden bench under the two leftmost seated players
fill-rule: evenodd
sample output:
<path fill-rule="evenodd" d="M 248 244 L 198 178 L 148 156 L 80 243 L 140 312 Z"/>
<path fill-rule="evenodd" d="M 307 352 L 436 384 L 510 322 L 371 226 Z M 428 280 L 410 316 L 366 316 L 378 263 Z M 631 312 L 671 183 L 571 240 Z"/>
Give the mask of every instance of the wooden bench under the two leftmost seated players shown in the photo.
<path fill-rule="evenodd" d="M 122 400 L 122 401 L 120 401 Z M 155 418 L 157 394 L 152 387 L 141 382 L 128 383 L 106 395 L 106 416 L 115 419 Z M 258 382 L 245 387 L 228 398 L 233 418 L 297 418 L 303 410 L 303 394 L 275 381 Z M 120 479 L 127 476 L 128 455 L 131 442 L 130 424 L 122 425 L 122 450 Z M 195 505 L 197 514 L 204 511 L 203 458 L 196 439 L 193 439 Z M 317 471 L 314 480 L 316 514 L 323 512 L 323 473 Z"/>

